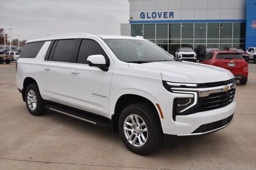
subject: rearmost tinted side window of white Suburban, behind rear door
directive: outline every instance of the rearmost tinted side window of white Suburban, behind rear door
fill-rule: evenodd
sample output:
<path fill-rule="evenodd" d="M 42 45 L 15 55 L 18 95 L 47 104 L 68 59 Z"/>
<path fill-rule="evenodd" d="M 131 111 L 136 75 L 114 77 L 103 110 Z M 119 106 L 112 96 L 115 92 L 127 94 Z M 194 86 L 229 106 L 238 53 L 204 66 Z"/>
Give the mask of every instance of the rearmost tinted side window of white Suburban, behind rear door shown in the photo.
<path fill-rule="evenodd" d="M 36 58 L 44 42 L 27 43 L 24 45 L 19 58 Z"/>

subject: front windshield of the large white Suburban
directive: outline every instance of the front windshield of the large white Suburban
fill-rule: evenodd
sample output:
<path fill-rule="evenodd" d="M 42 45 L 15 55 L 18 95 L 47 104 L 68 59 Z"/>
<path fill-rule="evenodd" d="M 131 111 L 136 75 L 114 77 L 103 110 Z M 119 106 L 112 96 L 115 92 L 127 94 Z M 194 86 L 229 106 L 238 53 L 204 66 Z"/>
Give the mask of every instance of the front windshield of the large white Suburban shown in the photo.
<path fill-rule="evenodd" d="M 174 61 L 169 53 L 151 41 L 138 39 L 104 39 L 104 41 L 119 60 L 127 63 Z"/>

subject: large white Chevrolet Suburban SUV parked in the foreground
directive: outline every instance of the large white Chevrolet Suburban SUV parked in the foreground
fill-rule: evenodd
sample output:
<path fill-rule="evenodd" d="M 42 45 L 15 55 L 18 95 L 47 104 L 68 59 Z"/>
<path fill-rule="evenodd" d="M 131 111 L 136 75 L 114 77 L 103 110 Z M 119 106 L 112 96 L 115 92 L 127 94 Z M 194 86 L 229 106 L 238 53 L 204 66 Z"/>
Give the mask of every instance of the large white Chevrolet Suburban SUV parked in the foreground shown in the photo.
<path fill-rule="evenodd" d="M 26 42 L 16 82 L 28 111 L 46 109 L 112 127 L 137 154 L 163 134 L 190 136 L 228 126 L 236 84 L 225 69 L 175 59 L 139 37 L 72 34 Z"/>

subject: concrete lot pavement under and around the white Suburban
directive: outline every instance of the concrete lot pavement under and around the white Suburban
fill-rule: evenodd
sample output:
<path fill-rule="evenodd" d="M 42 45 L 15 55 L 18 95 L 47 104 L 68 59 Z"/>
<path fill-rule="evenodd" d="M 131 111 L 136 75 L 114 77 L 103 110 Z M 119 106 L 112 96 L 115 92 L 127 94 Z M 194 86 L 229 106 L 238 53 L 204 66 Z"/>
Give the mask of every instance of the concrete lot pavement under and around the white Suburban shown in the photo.
<path fill-rule="evenodd" d="M 15 63 L 0 65 L 0 169 L 256 169 L 256 64 L 237 82 L 234 121 L 209 135 L 166 137 L 148 156 L 130 152 L 118 133 L 48 111 L 28 113 L 15 85 Z"/>

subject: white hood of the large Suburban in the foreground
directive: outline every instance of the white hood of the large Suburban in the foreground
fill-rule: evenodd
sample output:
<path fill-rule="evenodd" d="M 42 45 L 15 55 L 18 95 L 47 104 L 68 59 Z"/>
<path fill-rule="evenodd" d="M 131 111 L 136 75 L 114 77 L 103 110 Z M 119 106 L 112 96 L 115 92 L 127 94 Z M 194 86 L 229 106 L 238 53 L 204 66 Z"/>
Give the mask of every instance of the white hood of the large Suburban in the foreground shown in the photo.
<path fill-rule="evenodd" d="M 187 61 L 163 61 L 143 64 L 128 63 L 128 66 L 160 72 L 162 80 L 170 82 L 208 83 L 234 78 L 233 74 L 224 68 Z"/>

